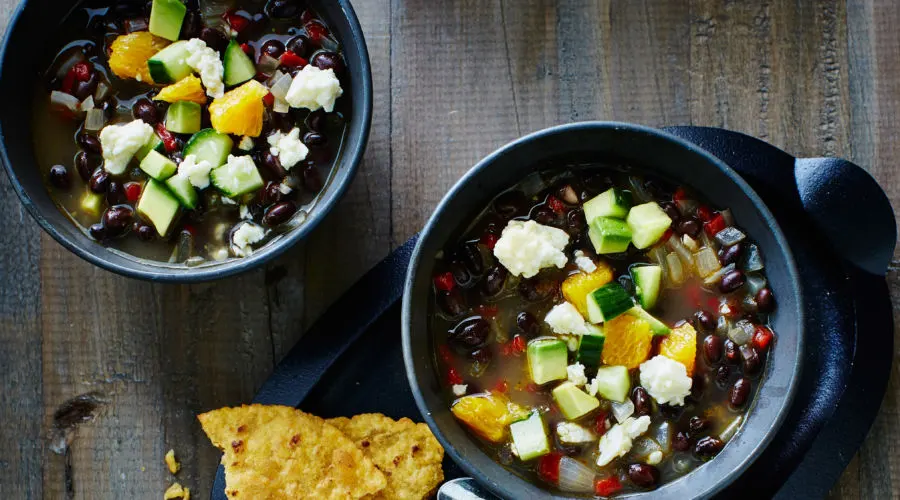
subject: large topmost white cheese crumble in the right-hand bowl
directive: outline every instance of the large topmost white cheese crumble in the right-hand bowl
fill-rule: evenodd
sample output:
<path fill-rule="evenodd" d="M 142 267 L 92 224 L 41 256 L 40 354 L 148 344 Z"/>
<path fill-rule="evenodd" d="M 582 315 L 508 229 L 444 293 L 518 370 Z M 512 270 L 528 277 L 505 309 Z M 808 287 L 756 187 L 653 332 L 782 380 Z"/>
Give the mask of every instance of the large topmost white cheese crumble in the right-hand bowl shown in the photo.
<path fill-rule="evenodd" d="M 514 275 L 531 278 L 545 267 L 562 268 L 569 259 L 563 249 L 569 235 L 533 220 L 509 221 L 494 246 L 494 256 Z"/>

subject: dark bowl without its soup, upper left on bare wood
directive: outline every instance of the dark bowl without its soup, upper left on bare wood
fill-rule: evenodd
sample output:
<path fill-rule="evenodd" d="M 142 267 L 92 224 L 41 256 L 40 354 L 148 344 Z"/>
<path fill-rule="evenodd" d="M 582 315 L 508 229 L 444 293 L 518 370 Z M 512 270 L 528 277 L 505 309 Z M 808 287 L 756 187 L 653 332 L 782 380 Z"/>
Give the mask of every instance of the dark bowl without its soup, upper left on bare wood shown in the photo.
<path fill-rule="evenodd" d="M 12 16 L 0 49 L 0 95 L 22 96 L 8 99 L 0 107 L 0 159 L 28 213 L 56 241 L 88 262 L 125 276 L 153 281 L 184 283 L 224 278 L 258 267 L 305 238 L 350 185 L 362 160 L 372 118 L 369 54 L 350 1 L 310 0 L 308 4 L 325 19 L 341 42 L 350 75 L 350 88 L 344 89 L 344 95 L 345 99 L 352 99 L 353 105 L 347 117 L 346 137 L 330 179 L 306 221 L 296 229 L 278 237 L 250 257 L 187 268 L 137 259 L 110 250 L 88 237 L 53 203 L 41 181 L 34 158 L 31 108 L 33 88 L 43 85 L 40 75 L 60 47 L 40 46 L 36 53 L 34 37 L 35 33 L 61 23 L 71 9 L 77 8 L 77 4 L 72 7 L 71 3 L 59 0 L 22 1 Z"/>

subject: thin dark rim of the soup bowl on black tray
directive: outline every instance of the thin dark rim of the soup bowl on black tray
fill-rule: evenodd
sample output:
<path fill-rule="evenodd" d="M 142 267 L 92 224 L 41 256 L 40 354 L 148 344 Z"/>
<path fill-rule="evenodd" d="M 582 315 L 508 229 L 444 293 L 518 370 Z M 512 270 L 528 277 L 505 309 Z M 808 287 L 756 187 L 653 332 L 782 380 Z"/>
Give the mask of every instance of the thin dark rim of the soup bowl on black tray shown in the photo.
<path fill-rule="evenodd" d="M 429 216 L 428 221 L 423 227 L 422 231 L 419 233 L 418 241 L 416 242 L 416 246 L 413 249 L 412 256 L 410 258 L 410 264 L 407 270 L 406 279 L 404 282 L 404 292 L 403 292 L 403 300 L 402 300 L 402 311 L 401 311 L 401 335 L 402 335 L 402 344 L 403 344 L 403 361 L 406 367 L 406 375 L 410 384 L 410 388 L 412 389 L 413 397 L 416 401 L 416 406 L 419 408 L 419 412 L 422 414 L 422 417 L 425 419 L 425 422 L 428 424 L 429 428 L 431 428 L 435 437 L 437 437 L 438 441 L 440 441 L 441 445 L 450 455 L 450 457 L 456 462 L 466 473 L 476 478 L 480 484 L 484 487 L 492 491 L 494 494 L 497 494 L 503 498 L 513 498 L 511 496 L 511 492 L 508 491 L 503 483 L 507 482 L 503 479 L 495 480 L 494 478 L 489 478 L 483 471 L 477 469 L 472 463 L 469 462 L 468 459 L 462 456 L 459 451 L 453 446 L 453 444 L 447 439 L 446 436 L 441 432 L 440 427 L 435 421 L 431 409 L 428 407 L 428 404 L 425 401 L 423 396 L 423 391 L 421 384 L 417 377 L 416 372 L 416 363 L 413 359 L 412 345 L 411 345 L 411 327 L 412 327 L 412 292 L 415 288 L 415 281 L 418 272 L 423 264 L 423 251 L 426 240 L 428 239 L 429 233 L 431 233 L 436 226 L 440 224 L 440 219 L 442 214 L 446 211 L 447 205 L 450 204 L 451 200 L 458 196 L 461 192 L 469 188 L 469 184 L 473 181 L 473 179 L 478 176 L 482 170 L 489 168 L 499 157 L 503 156 L 510 150 L 513 150 L 524 143 L 531 142 L 536 139 L 543 138 L 545 136 L 552 136 L 556 134 L 567 133 L 575 130 L 585 130 L 585 129 L 615 129 L 615 130 L 623 130 L 630 133 L 636 134 L 649 134 L 653 136 L 657 136 L 658 138 L 668 140 L 672 143 L 675 143 L 677 146 L 685 148 L 690 152 L 700 155 L 704 157 L 710 163 L 716 165 L 722 173 L 724 173 L 732 182 L 734 182 L 737 187 L 743 191 L 743 193 L 750 199 L 752 204 L 759 211 L 762 219 L 769 225 L 769 228 L 772 232 L 772 236 L 775 239 L 776 244 L 780 247 L 783 252 L 785 258 L 785 267 L 788 276 L 788 284 L 792 289 L 794 296 L 797 298 L 796 305 L 793 311 L 790 311 L 790 314 L 793 317 L 797 318 L 797 351 L 794 355 L 794 359 L 788 359 L 786 362 L 790 362 L 793 367 L 792 373 L 790 374 L 788 391 L 784 396 L 783 403 L 781 407 L 778 409 L 774 420 L 768 425 L 768 428 L 765 430 L 763 434 L 763 438 L 757 441 L 752 445 L 748 445 L 749 452 L 746 453 L 740 461 L 731 468 L 731 470 L 727 471 L 727 473 L 720 476 L 719 480 L 710 484 L 704 491 L 697 491 L 694 495 L 698 498 L 705 498 L 712 496 L 718 492 L 720 492 L 723 488 L 725 488 L 728 484 L 732 483 L 735 479 L 737 479 L 746 469 L 759 457 L 759 455 L 766 449 L 766 447 L 771 443 L 772 439 L 775 437 L 775 434 L 781 428 L 785 418 L 787 417 L 788 412 L 790 411 L 791 404 L 793 403 L 794 396 L 796 395 L 799 386 L 800 386 L 800 374 L 803 369 L 803 353 L 805 352 L 805 342 L 806 342 L 806 334 L 805 334 L 805 317 L 806 312 L 804 310 L 803 304 L 803 291 L 800 285 L 800 276 L 797 270 L 796 261 L 794 259 L 793 252 L 788 246 L 787 238 L 785 238 L 784 233 L 775 219 L 774 215 L 772 215 L 768 206 L 763 202 L 763 200 L 759 197 L 758 194 L 753 190 L 752 187 L 730 166 L 728 166 L 725 162 L 714 156 L 712 153 L 700 148 L 699 146 L 690 143 L 678 136 L 670 134 L 662 129 L 648 127 L 644 125 L 638 125 L 627 122 L 615 122 L 615 121 L 582 121 L 575 123 L 568 123 L 563 125 L 556 125 L 552 127 L 548 127 L 545 129 L 541 129 L 525 136 L 522 136 L 518 139 L 515 139 L 500 148 L 496 149 L 492 153 L 488 154 L 481 161 L 479 161 L 474 167 L 469 169 L 463 176 L 450 188 L 447 194 L 441 199 L 438 203 L 437 207 L 434 209 L 432 214 Z M 433 376 L 432 374 L 428 375 Z M 752 411 L 753 406 L 750 407 L 748 411 Z M 470 438 L 471 439 L 471 438 Z M 502 467 L 502 466 L 500 466 Z M 529 481 L 522 479 L 518 476 L 514 476 L 510 474 L 511 477 L 516 477 L 516 481 L 522 481 L 529 485 L 532 485 Z M 685 474 L 681 476 L 681 478 L 690 478 L 691 474 Z M 675 481 L 678 481 L 681 478 L 677 478 Z M 674 481 L 673 481 L 674 482 Z M 669 483 L 671 484 L 671 483 Z M 556 492 L 545 490 L 541 488 L 544 494 L 550 498 L 568 498 L 565 496 L 560 496 Z M 626 497 L 632 497 L 634 494 L 628 494 Z"/>

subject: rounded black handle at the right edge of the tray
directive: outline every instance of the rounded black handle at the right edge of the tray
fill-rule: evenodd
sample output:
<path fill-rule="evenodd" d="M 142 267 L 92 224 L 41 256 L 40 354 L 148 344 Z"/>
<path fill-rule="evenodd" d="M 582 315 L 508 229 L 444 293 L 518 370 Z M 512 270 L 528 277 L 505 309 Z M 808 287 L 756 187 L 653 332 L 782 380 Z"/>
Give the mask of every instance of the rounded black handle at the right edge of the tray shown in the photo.
<path fill-rule="evenodd" d="M 883 276 L 894 255 L 897 222 L 878 182 L 840 158 L 798 158 L 794 178 L 803 208 L 834 251 Z"/>

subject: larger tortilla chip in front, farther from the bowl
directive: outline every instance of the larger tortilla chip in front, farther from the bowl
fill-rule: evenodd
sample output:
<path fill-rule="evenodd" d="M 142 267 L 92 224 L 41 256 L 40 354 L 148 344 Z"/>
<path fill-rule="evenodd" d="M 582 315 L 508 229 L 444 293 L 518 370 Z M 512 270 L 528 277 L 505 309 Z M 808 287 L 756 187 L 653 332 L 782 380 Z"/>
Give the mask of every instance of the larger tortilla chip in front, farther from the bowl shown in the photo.
<path fill-rule="evenodd" d="M 372 460 L 319 417 L 286 406 L 221 408 L 197 417 L 222 449 L 228 498 L 361 498 L 387 481 Z"/>

